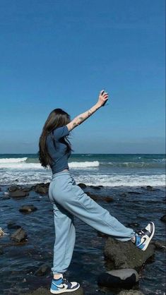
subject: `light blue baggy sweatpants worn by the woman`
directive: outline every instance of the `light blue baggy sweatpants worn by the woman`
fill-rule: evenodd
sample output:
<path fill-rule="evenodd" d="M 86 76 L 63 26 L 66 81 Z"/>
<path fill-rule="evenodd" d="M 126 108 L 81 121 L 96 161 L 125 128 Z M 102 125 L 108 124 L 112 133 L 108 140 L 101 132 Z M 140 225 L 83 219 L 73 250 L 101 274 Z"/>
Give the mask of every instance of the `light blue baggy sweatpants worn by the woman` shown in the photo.
<path fill-rule="evenodd" d="M 49 200 L 54 209 L 55 227 L 53 274 L 66 272 L 71 263 L 76 240 L 73 216 L 119 241 L 129 241 L 134 236 L 133 229 L 124 227 L 76 185 L 70 171 L 52 175 Z"/>

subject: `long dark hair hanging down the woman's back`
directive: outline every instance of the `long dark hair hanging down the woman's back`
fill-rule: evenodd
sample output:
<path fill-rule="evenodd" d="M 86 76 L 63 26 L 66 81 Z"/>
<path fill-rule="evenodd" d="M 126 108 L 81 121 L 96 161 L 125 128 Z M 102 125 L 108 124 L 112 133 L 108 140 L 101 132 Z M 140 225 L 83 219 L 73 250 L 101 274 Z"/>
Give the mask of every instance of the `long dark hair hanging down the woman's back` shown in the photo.
<path fill-rule="evenodd" d="M 39 161 L 40 164 L 47 168 L 49 165 L 51 167 L 52 163 L 52 157 L 49 155 L 49 152 L 47 151 L 47 145 L 46 145 L 46 140 L 47 136 L 50 135 L 52 136 L 52 140 L 55 146 L 55 141 L 54 141 L 54 136 L 52 134 L 52 131 L 54 131 L 55 128 L 64 126 L 66 124 L 69 124 L 71 121 L 71 116 L 64 112 L 63 109 L 53 109 L 53 111 L 49 114 L 47 120 L 45 121 L 45 125 L 42 128 L 42 134 L 40 136 L 39 140 L 39 151 L 37 152 L 39 156 Z M 61 143 L 64 143 L 66 145 L 66 152 L 71 152 L 71 143 L 69 140 L 66 138 L 60 138 Z M 72 150 L 73 151 L 73 150 Z"/>

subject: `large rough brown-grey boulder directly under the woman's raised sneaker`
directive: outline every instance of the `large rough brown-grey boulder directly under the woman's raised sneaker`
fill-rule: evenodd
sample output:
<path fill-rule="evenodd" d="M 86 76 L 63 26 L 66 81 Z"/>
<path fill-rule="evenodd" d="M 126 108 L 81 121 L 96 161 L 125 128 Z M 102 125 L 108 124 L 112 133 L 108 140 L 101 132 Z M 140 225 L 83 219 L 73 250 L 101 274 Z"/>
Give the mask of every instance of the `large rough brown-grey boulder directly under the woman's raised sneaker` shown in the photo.
<path fill-rule="evenodd" d="M 155 253 L 155 246 L 150 243 L 146 251 L 141 251 L 131 241 L 117 241 L 109 237 L 105 242 L 105 258 L 114 263 L 115 269 L 134 268 L 139 270 Z"/>

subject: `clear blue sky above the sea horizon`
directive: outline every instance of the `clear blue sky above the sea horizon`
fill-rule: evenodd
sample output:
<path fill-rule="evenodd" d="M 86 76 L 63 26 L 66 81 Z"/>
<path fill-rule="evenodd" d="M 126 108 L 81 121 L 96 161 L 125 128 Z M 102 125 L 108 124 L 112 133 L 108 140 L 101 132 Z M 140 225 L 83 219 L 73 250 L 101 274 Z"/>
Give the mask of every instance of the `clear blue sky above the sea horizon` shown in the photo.
<path fill-rule="evenodd" d="M 73 119 L 76 153 L 165 152 L 165 1 L 0 2 L 0 153 L 38 150 L 52 109 Z"/>

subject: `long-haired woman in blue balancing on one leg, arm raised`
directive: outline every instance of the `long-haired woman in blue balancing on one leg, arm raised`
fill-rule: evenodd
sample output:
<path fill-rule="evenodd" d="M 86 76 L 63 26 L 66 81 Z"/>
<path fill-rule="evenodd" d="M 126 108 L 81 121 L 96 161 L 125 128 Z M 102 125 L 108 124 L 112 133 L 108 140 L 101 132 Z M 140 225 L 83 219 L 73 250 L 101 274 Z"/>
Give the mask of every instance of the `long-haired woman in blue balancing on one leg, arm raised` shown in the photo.
<path fill-rule="evenodd" d="M 71 263 L 76 239 L 73 216 L 78 217 L 97 231 L 108 234 L 119 241 L 133 242 L 136 247 L 145 251 L 153 237 L 155 226 L 150 222 L 145 229 L 134 232 L 124 227 L 107 210 L 95 203 L 84 191 L 76 185 L 69 171 L 68 159 L 71 155 L 71 145 L 66 138 L 69 132 L 82 124 L 93 113 L 104 106 L 108 93 L 102 90 L 97 103 L 76 116 L 71 121 L 69 114 L 62 109 L 54 109 L 48 116 L 42 129 L 39 142 L 39 159 L 43 167 L 51 167 L 52 181 L 49 184 L 49 200 L 54 209 L 54 227 L 56 239 L 54 242 L 53 278 L 50 291 L 61 294 L 66 291 L 76 291 L 80 287 L 77 282 L 68 282 L 64 272 Z"/>

